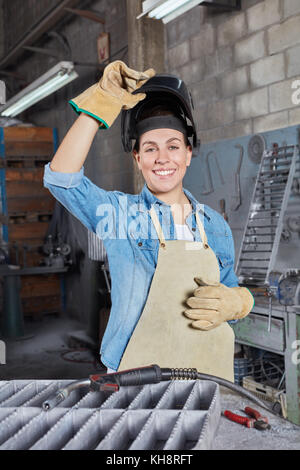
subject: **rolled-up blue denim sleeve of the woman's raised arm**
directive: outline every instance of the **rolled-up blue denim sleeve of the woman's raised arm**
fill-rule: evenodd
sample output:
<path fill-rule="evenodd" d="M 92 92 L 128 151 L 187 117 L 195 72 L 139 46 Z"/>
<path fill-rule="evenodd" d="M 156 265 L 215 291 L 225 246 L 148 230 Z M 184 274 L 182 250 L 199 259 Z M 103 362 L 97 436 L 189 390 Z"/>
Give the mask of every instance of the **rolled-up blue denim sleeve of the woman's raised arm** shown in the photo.
<path fill-rule="evenodd" d="M 85 227 L 96 232 L 99 237 L 105 238 L 107 230 L 114 230 L 113 192 L 105 191 L 92 183 L 84 176 L 83 167 L 76 173 L 61 173 L 53 171 L 48 163 L 45 165 L 44 186 Z"/>

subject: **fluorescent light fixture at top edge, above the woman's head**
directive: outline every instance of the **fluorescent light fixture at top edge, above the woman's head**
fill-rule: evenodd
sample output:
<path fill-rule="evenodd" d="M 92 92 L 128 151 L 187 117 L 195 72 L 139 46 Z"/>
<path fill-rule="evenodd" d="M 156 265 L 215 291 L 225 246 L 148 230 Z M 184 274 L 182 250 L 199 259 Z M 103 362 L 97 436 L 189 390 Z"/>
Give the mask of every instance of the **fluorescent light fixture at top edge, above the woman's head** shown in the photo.
<path fill-rule="evenodd" d="M 143 2 L 143 13 L 141 18 L 148 14 L 150 18 L 162 20 L 169 23 L 188 10 L 200 5 L 204 0 L 145 0 Z"/>

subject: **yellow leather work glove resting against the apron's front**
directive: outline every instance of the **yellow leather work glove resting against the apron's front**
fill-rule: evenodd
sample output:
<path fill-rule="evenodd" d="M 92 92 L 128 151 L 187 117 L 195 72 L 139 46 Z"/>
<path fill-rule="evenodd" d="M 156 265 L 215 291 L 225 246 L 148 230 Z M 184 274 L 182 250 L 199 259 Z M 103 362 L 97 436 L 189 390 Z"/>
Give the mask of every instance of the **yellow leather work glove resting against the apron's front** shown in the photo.
<path fill-rule="evenodd" d="M 193 328 L 211 330 L 228 320 L 244 318 L 254 306 L 253 296 L 246 287 L 227 287 L 200 278 L 195 281 L 199 287 L 194 297 L 186 301 L 191 308 L 184 311 L 186 317 L 194 320 Z"/>

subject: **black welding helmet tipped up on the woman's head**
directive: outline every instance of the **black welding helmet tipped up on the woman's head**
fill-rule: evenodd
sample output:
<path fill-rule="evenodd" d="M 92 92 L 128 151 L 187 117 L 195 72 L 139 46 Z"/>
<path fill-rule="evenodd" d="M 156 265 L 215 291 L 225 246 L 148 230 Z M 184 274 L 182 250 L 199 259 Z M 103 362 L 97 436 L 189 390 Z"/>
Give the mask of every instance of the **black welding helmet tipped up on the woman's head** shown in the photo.
<path fill-rule="evenodd" d="M 143 132 L 159 127 L 169 127 L 168 118 L 171 128 L 185 133 L 187 138 L 192 139 L 194 148 L 199 147 L 200 142 L 197 139 L 192 114 L 194 109 L 192 96 L 180 78 L 165 73 L 157 74 L 133 92 L 133 94 L 137 93 L 146 93 L 147 96 L 134 108 L 123 110 L 121 115 L 122 143 L 125 152 L 132 151 L 133 142 Z M 156 106 L 165 106 L 176 118 L 164 116 L 144 119 L 145 111 Z"/>

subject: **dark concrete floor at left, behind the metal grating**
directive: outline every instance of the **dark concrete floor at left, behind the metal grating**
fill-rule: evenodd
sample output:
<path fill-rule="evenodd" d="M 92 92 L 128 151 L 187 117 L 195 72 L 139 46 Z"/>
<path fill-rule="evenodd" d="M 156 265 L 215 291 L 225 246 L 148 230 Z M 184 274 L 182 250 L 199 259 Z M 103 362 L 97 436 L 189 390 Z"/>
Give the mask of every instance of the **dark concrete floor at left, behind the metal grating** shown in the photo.
<path fill-rule="evenodd" d="M 81 379 L 104 369 L 96 351 L 70 339 L 80 330 L 84 326 L 70 318 L 26 319 L 23 339 L 5 340 L 6 364 L 0 365 L 0 380 Z"/>

